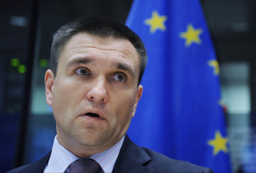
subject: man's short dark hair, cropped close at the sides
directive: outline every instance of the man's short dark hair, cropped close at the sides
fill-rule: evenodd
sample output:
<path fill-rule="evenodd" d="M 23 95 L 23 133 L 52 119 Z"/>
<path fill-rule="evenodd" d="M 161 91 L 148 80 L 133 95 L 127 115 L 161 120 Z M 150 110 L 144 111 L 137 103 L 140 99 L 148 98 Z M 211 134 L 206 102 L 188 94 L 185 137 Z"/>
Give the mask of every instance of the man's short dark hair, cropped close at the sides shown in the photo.
<path fill-rule="evenodd" d="M 80 17 L 59 28 L 53 37 L 50 55 L 50 69 L 54 76 L 57 74 L 58 57 L 64 45 L 78 33 L 86 33 L 103 38 L 113 37 L 127 39 L 135 47 L 140 57 L 140 72 L 138 84 L 141 83 L 142 76 L 147 64 L 147 53 L 144 43 L 130 28 L 109 17 L 84 16 Z"/>

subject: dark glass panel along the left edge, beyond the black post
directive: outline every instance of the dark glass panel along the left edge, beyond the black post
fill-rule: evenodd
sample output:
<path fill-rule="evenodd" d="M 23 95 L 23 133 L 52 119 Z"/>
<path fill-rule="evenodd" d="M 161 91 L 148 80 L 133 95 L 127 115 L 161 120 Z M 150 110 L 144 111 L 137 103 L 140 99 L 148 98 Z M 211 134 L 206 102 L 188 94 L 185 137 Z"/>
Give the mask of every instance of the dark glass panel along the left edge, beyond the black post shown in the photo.
<path fill-rule="evenodd" d="M 23 111 L 29 0 L 1 1 L 0 127 L 1 172 L 14 165 L 18 120 Z"/>

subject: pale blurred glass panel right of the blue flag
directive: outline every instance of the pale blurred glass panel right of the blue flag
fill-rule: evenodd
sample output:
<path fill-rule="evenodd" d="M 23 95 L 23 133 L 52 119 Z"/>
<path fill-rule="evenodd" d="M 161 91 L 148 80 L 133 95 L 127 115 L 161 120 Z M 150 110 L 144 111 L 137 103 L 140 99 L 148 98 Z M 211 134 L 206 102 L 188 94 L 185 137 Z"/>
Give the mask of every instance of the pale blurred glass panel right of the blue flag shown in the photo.
<path fill-rule="evenodd" d="M 247 164 L 250 146 L 250 65 L 247 62 L 222 63 L 222 98 L 227 106 L 228 135 L 233 171 Z"/>

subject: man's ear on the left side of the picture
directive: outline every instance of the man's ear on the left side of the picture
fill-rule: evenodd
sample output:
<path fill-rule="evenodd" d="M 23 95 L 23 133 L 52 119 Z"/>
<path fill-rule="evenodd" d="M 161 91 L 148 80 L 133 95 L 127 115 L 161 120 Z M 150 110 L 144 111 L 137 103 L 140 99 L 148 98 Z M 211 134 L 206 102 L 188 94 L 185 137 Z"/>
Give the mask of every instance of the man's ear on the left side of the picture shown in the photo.
<path fill-rule="evenodd" d="M 47 70 L 45 73 L 45 94 L 46 94 L 46 102 L 49 106 L 51 106 L 51 99 L 53 96 L 53 86 L 54 86 L 53 71 Z"/>

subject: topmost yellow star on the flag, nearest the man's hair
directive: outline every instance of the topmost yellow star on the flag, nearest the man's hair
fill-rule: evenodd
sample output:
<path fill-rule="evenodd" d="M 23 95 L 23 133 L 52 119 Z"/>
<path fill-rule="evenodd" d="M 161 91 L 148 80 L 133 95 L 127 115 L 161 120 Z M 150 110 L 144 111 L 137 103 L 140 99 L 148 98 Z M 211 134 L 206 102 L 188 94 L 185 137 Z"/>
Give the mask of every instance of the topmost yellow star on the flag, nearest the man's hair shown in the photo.
<path fill-rule="evenodd" d="M 152 11 L 152 17 L 144 20 L 146 25 L 150 26 L 150 33 L 154 34 L 157 29 L 166 30 L 164 22 L 167 20 L 166 16 L 159 16 L 157 11 Z"/>

